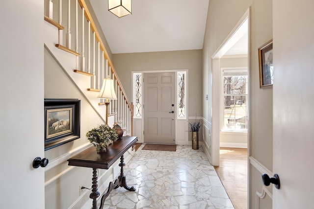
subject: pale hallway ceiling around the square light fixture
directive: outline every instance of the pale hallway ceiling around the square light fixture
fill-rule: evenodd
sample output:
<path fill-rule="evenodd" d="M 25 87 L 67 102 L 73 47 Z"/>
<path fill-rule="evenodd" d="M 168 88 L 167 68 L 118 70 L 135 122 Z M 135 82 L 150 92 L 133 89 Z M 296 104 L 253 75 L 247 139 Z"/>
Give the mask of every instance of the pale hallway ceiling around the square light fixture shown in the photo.
<path fill-rule="evenodd" d="M 203 48 L 209 0 L 132 0 L 132 14 L 120 19 L 107 0 L 90 2 L 113 54 Z"/>

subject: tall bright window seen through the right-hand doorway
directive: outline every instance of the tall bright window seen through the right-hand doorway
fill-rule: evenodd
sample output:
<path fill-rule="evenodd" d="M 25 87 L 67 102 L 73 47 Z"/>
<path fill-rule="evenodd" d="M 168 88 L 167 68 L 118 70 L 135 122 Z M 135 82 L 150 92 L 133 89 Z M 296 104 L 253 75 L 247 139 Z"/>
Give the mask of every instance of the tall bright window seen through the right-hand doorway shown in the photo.
<path fill-rule="evenodd" d="M 223 72 L 223 130 L 247 131 L 247 71 Z"/>

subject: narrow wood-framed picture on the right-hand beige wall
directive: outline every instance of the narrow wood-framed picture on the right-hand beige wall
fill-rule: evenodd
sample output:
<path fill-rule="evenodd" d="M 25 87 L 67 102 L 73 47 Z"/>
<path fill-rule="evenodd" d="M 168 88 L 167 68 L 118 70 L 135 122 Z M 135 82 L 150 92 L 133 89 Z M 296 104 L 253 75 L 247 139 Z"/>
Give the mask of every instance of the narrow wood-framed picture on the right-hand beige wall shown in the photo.
<path fill-rule="evenodd" d="M 274 83 L 273 40 L 259 47 L 260 88 L 271 88 Z"/>

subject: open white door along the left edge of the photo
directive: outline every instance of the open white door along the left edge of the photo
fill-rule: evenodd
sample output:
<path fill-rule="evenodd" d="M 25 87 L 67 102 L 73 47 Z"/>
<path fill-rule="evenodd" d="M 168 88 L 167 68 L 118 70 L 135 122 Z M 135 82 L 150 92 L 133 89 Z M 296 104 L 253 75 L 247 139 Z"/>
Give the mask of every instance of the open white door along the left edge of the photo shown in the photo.
<path fill-rule="evenodd" d="M 1 1 L 0 208 L 43 209 L 43 1 Z"/>

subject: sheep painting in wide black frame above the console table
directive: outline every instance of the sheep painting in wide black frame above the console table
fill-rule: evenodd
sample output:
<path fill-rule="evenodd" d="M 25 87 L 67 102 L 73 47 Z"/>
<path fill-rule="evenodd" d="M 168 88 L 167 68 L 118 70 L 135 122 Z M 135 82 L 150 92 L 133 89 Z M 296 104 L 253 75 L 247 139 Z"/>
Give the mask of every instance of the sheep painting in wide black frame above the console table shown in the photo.
<path fill-rule="evenodd" d="M 80 137 L 80 100 L 45 99 L 45 150 Z"/>

